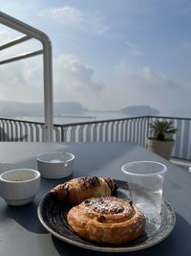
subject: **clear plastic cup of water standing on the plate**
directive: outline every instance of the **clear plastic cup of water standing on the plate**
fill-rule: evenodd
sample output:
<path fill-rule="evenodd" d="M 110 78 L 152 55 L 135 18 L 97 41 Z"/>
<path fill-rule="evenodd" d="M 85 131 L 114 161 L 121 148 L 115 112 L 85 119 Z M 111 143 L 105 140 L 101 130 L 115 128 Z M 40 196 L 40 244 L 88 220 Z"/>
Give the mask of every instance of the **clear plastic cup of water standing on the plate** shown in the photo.
<path fill-rule="evenodd" d="M 167 167 L 154 161 L 130 162 L 121 167 L 133 203 L 156 227 L 160 224 L 164 174 Z"/>

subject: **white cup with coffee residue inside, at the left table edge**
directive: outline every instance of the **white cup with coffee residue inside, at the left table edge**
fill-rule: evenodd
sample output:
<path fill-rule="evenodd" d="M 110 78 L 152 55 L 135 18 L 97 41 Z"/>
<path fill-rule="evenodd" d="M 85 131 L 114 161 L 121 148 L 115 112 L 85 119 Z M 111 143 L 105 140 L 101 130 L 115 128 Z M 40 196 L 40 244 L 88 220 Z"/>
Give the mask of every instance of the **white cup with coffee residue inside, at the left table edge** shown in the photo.
<path fill-rule="evenodd" d="M 32 201 L 40 189 L 40 173 L 32 169 L 14 169 L 0 175 L 0 197 L 9 205 Z"/>

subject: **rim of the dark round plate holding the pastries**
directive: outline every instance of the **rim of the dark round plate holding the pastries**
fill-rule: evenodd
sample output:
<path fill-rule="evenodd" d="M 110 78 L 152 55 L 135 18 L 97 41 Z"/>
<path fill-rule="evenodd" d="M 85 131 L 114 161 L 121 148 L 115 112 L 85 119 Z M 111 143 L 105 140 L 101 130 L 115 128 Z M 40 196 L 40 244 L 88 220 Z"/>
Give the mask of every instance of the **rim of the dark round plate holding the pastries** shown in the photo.
<path fill-rule="evenodd" d="M 127 181 L 124 181 L 124 180 L 118 180 L 118 179 L 115 179 L 117 182 L 121 182 L 121 183 L 126 183 L 127 184 Z M 63 236 L 63 235 L 60 235 L 58 234 L 57 232 L 55 232 L 44 220 L 43 220 L 43 217 L 41 215 L 41 210 L 42 210 L 42 207 L 43 207 L 43 203 L 44 201 L 46 200 L 46 198 L 48 198 L 49 196 L 51 196 L 52 193 L 49 191 L 47 192 L 43 198 L 40 200 L 39 204 L 38 204 L 38 207 L 37 207 L 37 216 L 38 216 L 38 219 L 39 221 L 41 222 L 41 224 L 44 226 L 44 228 L 49 232 L 51 233 L 54 237 L 60 239 L 61 241 L 63 242 L 66 242 L 68 244 L 73 244 L 75 246 L 78 246 L 78 247 L 82 247 L 82 248 L 86 248 L 86 249 L 90 249 L 90 250 L 95 250 L 95 251 L 101 251 L 101 252 L 130 252 L 130 251 L 138 251 L 138 250 L 141 250 L 141 249 L 145 249 L 145 248 L 148 248 L 148 247 L 151 247 L 155 244 L 159 244 L 160 242 L 162 242 L 163 240 L 165 240 L 169 235 L 170 233 L 172 232 L 172 230 L 174 229 L 175 225 L 176 225 L 176 214 L 175 214 L 175 211 L 174 209 L 172 208 L 172 206 L 170 205 L 170 203 L 162 197 L 162 201 L 164 204 L 166 204 L 168 206 L 168 208 L 170 209 L 171 211 L 171 214 L 173 216 L 173 221 L 171 223 L 171 226 L 169 226 L 169 229 L 168 229 L 168 232 L 166 232 L 163 236 L 160 236 L 159 239 L 156 239 L 152 244 L 138 244 L 138 246 L 131 246 L 131 245 L 128 245 L 128 246 L 123 246 L 121 244 L 120 245 L 117 245 L 117 247 L 115 246 L 109 246 L 109 245 L 99 245 L 99 244 L 83 244 L 81 242 L 78 242 L 78 241 L 74 241 L 66 236 Z M 156 233 L 158 234 L 158 232 Z M 155 235 L 156 235 L 155 234 Z M 154 236 L 154 235 L 153 235 Z M 153 237 L 152 236 L 152 237 Z M 150 239 L 150 238 L 148 238 Z M 147 240 L 146 240 L 147 241 Z M 91 242 L 90 242 L 91 243 Z"/>

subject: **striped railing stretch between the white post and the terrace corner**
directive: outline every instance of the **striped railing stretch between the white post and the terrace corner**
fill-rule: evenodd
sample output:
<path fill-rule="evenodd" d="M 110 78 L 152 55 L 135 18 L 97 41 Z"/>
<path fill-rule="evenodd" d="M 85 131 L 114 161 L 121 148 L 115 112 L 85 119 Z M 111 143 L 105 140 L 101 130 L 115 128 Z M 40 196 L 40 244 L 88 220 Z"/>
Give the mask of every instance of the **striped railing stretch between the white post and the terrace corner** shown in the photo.
<path fill-rule="evenodd" d="M 66 142 L 133 141 L 145 145 L 148 117 L 54 125 L 54 140 Z"/>

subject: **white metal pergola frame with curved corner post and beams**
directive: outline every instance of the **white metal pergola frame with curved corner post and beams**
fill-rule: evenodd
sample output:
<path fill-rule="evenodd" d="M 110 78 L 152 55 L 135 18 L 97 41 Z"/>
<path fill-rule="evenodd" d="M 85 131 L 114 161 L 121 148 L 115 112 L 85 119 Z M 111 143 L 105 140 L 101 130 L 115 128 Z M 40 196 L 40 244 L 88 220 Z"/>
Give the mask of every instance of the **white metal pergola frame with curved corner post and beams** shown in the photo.
<path fill-rule="evenodd" d="M 45 132 L 44 139 L 46 142 L 53 141 L 53 57 L 52 43 L 48 35 L 33 28 L 32 26 L 11 17 L 10 15 L 0 12 L 0 23 L 10 27 L 11 29 L 24 34 L 23 36 L 13 39 L 10 42 L 1 45 L 0 51 L 11 46 L 22 43 L 29 39 L 36 39 L 42 43 L 42 49 L 29 53 L 24 53 L 13 58 L 8 58 L 0 61 L 0 65 L 12 61 L 17 61 L 23 58 L 31 58 L 37 55 L 43 55 L 43 77 L 44 77 L 44 117 L 45 117 Z"/>

